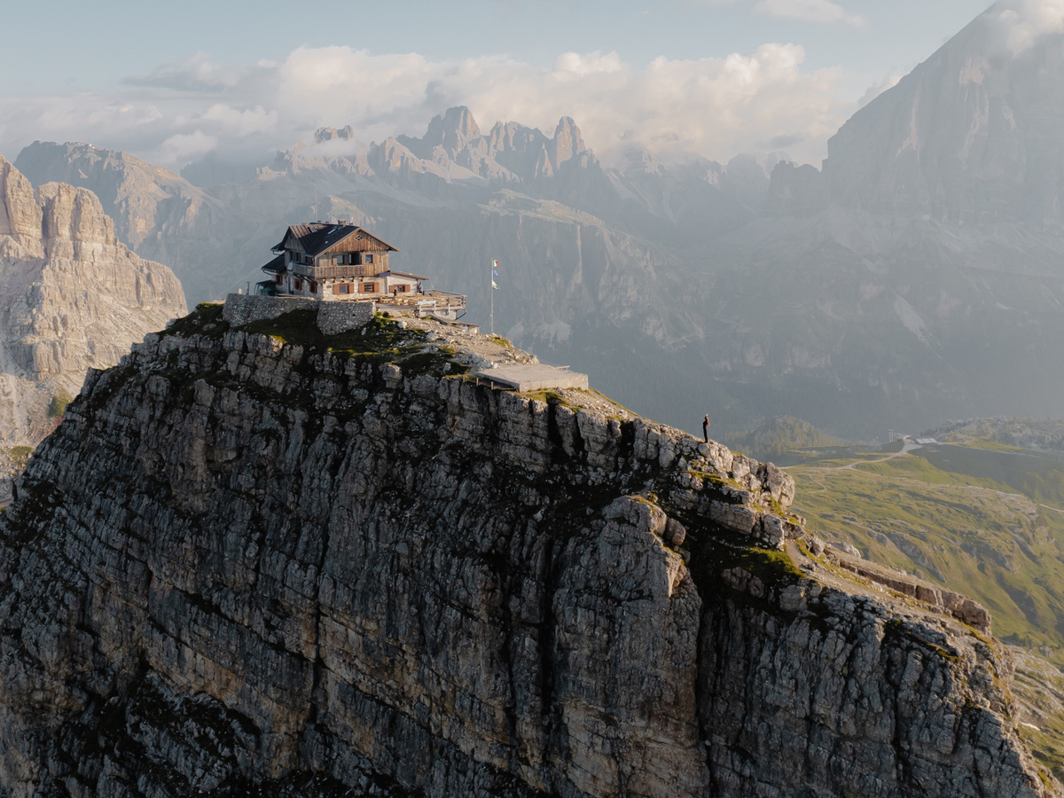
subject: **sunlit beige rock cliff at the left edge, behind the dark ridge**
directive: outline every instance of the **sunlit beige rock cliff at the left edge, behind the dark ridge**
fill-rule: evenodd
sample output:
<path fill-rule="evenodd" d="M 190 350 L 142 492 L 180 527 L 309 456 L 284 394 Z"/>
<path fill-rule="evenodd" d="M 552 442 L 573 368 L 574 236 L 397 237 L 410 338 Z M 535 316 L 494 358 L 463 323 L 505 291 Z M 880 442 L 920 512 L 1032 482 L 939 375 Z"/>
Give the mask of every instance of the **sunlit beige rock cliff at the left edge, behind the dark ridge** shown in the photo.
<path fill-rule="evenodd" d="M 99 200 L 36 192 L 0 157 L 0 443 L 35 444 L 53 396 L 185 312 L 173 273 L 118 243 Z"/>

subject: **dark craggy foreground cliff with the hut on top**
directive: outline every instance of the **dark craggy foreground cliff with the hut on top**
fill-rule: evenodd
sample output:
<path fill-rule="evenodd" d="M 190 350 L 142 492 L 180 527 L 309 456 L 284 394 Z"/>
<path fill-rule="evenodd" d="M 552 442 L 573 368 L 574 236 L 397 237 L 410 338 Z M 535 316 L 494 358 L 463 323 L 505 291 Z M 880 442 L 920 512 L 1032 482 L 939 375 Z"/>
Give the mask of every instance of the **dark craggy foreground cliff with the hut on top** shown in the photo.
<path fill-rule="evenodd" d="M 1000 647 L 786 475 L 485 359 L 203 306 L 92 372 L 0 520 L 0 789 L 1049 794 Z"/>

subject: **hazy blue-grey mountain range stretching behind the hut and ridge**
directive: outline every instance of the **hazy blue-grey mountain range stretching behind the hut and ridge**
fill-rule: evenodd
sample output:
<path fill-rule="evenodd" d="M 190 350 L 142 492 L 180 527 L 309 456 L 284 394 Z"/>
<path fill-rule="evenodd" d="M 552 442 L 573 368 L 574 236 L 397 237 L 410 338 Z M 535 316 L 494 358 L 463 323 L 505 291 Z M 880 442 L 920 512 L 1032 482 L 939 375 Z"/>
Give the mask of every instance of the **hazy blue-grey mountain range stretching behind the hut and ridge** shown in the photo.
<path fill-rule="evenodd" d="M 283 228 L 353 218 L 399 268 L 633 409 L 721 432 L 791 414 L 850 438 L 947 417 L 1060 415 L 1064 36 L 1002 46 L 990 12 L 829 143 L 820 170 L 737 157 L 600 163 L 577 124 L 425 136 L 326 128 L 240 183 L 35 143 L 35 185 L 95 192 L 190 300 L 259 279 Z"/>

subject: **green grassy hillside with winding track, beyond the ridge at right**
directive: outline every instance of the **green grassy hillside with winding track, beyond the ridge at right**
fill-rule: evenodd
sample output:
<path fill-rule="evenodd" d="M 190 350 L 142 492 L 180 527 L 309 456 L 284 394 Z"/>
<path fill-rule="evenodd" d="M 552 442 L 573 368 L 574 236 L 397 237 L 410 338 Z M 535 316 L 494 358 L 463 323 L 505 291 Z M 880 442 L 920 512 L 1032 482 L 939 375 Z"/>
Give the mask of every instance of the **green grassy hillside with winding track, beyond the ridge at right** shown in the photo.
<path fill-rule="evenodd" d="M 891 454 L 835 447 L 789 466 L 796 511 L 974 596 L 997 636 L 1064 665 L 1064 460 L 984 440 Z"/>

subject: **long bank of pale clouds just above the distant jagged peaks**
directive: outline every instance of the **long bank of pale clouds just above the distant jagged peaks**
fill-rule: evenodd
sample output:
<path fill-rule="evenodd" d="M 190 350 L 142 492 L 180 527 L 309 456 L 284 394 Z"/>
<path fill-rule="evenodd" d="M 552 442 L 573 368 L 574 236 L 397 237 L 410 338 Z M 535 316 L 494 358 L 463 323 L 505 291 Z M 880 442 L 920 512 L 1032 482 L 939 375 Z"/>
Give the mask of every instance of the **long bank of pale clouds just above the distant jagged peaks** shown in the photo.
<path fill-rule="evenodd" d="M 301 47 L 282 62 L 236 65 L 196 53 L 110 94 L 0 99 L 0 151 L 14 157 L 34 139 L 82 140 L 174 169 L 207 153 L 266 163 L 319 127 L 350 124 L 364 143 L 420 135 L 433 115 L 467 105 L 485 129 L 502 119 L 551 134 L 571 116 L 605 157 L 624 137 L 718 161 L 785 144 L 791 157 L 816 162 L 857 104 L 836 97 L 837 69 L 807 71 L 803 59 L 801 47 L 779 44 L 642 68 L 601 52 L 564 53 L 549 68 L 350 47 Z"/>

